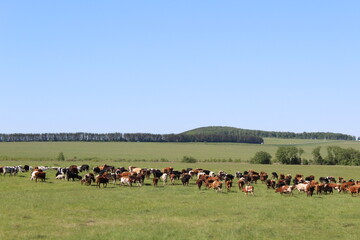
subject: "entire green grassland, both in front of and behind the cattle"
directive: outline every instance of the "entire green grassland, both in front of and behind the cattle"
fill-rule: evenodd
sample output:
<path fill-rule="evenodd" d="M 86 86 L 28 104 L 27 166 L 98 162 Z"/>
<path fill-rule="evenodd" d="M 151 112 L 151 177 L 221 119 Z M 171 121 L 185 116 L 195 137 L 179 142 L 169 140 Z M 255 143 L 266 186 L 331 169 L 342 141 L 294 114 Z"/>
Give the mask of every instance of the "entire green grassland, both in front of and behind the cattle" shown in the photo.
<path fill-rule="evenodd" d="M 337 145 L 360 149 L 358 142 L 268 140 L 248 144 L 163 143 L 1 143 L 0 155 L 20 160 L 0 160 L 0 165 L 69 166 L 104 163 L 116 167 L 204 168 L 213 171 L 254 169 L 284 174 L 342 176 L 360 179 L 360 167 L 253 165 L 245 162 L 181 163 L 184 155 L 198 159 L 241 158 L 256 151 L 274 155 L 278 146 L 295 144 L 305 153 L 316 147 Z M 56 161 L 62 151 L 77 161 Z M 311 154 L 309 157 L 311 158 Z M 307 153 L 308 154 L 308 153 Z M 86 158 L 94 158 L 86 160 Z M 170 162 L 122 162 L 120 159 L 160 159 Z M 80 174 L 83 175 L 83 174 Z M 154 188 L 151 179 L 142 187 L 109 184 L 107 188 L 82 186 L 56 180 L 47 171 L 47 181 L 30 181 L 30 173 L 0 176 L 0 239 L 358 239 L 360 197 L 349 194 L 314 195 L 294 192 L 281 196 L 258 182 L 255 196 L 245 196 L 235 186 L 216 193 L 190 186 L 163 185 Z M 236 184 L 234 184 L 236 185 Z"/>

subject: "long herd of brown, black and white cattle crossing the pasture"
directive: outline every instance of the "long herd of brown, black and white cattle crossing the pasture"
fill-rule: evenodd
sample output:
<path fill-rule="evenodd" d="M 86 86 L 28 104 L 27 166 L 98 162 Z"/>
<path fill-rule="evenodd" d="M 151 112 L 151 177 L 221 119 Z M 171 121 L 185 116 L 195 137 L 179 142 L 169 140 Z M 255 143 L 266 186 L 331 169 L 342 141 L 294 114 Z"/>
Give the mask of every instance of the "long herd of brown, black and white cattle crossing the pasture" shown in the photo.
<path fill-rule="evenodd" d="M 100 188 L 102 185 L 106 187 L 109 182 L 116 184 L 117 181 L 120 182 L 120 185 L 132 186 L 137 184 L 142 186 L 144 184 L 145 178 L 151 179 L 154 187 L 158 186 L 159 180 L 163 184 L 175 184 L 175 181 L 181 181 L 182 185 L 187 186 L 190 183 L 190 180 L 194 179 L 195 184 L 198 189 L 201 189 L 202 186 L 205 188 L 214 189 L 217 192 L 221 192 L 223 185 L 226 188 L 226 191 L 230 191 L 233 182 L 237 181 L 237 186 L 240 191 L 244 192 L 245 195 L 251 194 L 254 195 L 254 184 L 257 184 L 258 181 L 261 181 L 263 184 L 266 184 L 267 189 L 273 189 L 276 193 L 280 194 L 292 194 L 294 190 L 299 192 L 304 192 L 307 196 L 313 196 L 314 192 L 316 194 L 330 194 L 334 191 L 340 192 L 349 192 L 351 195 L 359 195 L 360 192 L 360 181 L 355 181 L 350 179 L 346 181 L 345 179 L 339 177 L 338 180 L 335 177 L 320 177 L 318 180 L 315 180 L 315 176 L 304 177 L 301 174 L 297 174 L 295 177 L 292 177 L 290 174 L 277 174 L 272 172 L 269 176 L 266 172 L 256 172 L 254 170 L 236 172 L 235 176 L 228 174 L 224 171 L 219 171 L 217 173 L 205 169 L 182 169 L 181 171 L 174 170 L 172 167 L 167 167 L 163 169 L 154 169 L 154 168 L 137 168 L 130 166 L 129 168 L 115 168 L 109 165 L 102 165 L 93 168 L 93 172 L 89 173 L 89 165 L 71 165 L 70 167 L 45 167 L 37 166 L 30 167 L 25 166 L 4 166 L 0 167 L 0 174 L 9 176 L 15 176 L 18 172 L 29 172 L 31 171 L 30 180 L 45 181 L 46 180 L 46 170 L 53 169 L 56 170 L 55 178 L 56 179 L 66 179 L 66 180 L 78 180 L 83 185 L 90 186 L 92 183 L 95 183 L 97 187 Z M 80 176 L 79 173 L 86 172 L 85 175 Z"/>

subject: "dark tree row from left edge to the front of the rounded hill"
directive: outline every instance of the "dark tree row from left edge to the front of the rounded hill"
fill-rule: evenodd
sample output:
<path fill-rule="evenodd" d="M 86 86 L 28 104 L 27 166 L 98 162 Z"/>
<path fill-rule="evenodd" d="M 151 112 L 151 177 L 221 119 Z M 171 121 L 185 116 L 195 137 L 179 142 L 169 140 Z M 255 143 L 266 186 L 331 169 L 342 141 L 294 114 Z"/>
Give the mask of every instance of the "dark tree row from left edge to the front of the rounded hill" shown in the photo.
<path fill-rule="evenodd" d="M 257 136 L 225 134 L 150 134 L 150 133 L 39 133 L 0 134 L 0 142 L 234 142 L 261 144 Z"/>

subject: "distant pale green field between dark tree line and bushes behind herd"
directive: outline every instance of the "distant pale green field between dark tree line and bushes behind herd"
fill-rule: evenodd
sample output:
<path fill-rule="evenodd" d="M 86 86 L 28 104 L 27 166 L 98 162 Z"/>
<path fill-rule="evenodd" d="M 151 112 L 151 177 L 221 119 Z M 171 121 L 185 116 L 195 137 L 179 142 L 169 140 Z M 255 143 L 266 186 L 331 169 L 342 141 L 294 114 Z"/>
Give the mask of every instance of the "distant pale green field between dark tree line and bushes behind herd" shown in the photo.
<path fill-rule="evenodd" d="M 273 158 L 279 146 L 296 146 L 304 149 L 305 159 L 312 159 L 312 150 L 331 145 L 360 150 L 358 141 L 324 141 L 302 139 L 265 139 L 265 144 L 242 143 L 142 143 L 142 142 L 11 142 L 0 143 L 0 160 L 49 161 L 55 160 L 60 152 L 66 159 L 91 161 L 181 161 L 191 156 L 199 161 L 209 159 L 248 161 L 258 151 L 266 151 Z"/>

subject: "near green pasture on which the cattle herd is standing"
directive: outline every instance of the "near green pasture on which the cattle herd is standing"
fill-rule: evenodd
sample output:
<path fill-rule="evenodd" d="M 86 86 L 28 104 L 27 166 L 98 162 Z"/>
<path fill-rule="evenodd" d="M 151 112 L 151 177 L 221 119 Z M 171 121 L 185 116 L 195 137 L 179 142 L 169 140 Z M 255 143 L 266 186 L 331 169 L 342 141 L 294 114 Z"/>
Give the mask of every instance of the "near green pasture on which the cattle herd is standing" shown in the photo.
<path fill-rule="evenodd" d="M 4 163 L 8 161 L 0 165 Z M 254 169 L 360 179 L 360 167 L 348 166 L 172 165 L 175 169 L 199 167 L 229 173 Z M 0 239 L 358 239 L 360 234 L 360 197 L 349 194 L 281 196 L 258 183 L 255 196 L 246 197 L 235 187 L 229 193 L 199 191 L 194 181 L 188 187 L 177 182 L 154 188 L 150 179 L 143 187 L 109 184 L 98 189 L 55 180 L 53 170 L 47 171 L 47 177 L 45 183 L 35 183 L 29 180 L 30 173 L 0 176 Z"/>

